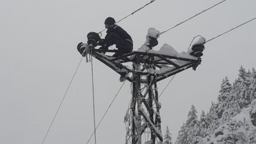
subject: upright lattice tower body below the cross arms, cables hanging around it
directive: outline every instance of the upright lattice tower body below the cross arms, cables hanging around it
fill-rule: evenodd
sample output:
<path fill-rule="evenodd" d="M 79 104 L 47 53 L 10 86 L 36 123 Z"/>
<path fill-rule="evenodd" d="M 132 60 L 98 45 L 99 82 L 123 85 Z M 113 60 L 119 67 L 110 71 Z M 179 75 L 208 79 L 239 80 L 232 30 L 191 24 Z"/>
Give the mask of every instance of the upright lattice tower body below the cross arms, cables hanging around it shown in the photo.
<path fill-rule="evenodd" d="M 152 74 L 142 76 L 140 61 L 134 63 L 134 82 L 132 82 L 132 100 L 127 124 L 127 144 L 155 144 L 163 142 L 161 117 L 158 102 L 156 77 Z M 145 140 L 142 140 L 145 138 Z"/>

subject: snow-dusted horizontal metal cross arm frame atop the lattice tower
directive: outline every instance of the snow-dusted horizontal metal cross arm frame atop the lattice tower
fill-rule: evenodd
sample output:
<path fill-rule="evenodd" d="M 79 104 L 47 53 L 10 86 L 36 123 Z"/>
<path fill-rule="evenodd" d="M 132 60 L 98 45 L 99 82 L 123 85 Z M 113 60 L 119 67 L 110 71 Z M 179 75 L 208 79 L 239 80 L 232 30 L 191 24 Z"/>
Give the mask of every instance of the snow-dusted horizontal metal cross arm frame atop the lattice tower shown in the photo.
<path fill-rule="evenodd" d="M 167 77 L 173 76 L 183 70 L 193 67 L 195 70 L 200 62 L 201 58 L 191 57 L 186 58 L 178 56 L 170 56 L 164 54 L 158 54 L 153 52 L 140 52 L 132 51 L 122 56 L 112 57 L 105 55 L 103 52 L 118 52 L 117 50 L 100 50 L 92 49 L 91 55 L 102 63 L 106 64 L 111 69 L 115 70 L 118 74 L 134 72 L 133 68 L 125 67 L 125 63 L 136 63 L 136 59 L 140 58 L 140 65 L 144 68 L 140 70 L 140 74 L 146 76 L 147 74 L 156 75 L 156 80 L 161 81 Z M 150 69 L 151 68 L 151 69 Z M 150 71 L 151 72 L 148 72 Z M 127 77 L 127 80 L 132 82 L 133 77 Z"/>

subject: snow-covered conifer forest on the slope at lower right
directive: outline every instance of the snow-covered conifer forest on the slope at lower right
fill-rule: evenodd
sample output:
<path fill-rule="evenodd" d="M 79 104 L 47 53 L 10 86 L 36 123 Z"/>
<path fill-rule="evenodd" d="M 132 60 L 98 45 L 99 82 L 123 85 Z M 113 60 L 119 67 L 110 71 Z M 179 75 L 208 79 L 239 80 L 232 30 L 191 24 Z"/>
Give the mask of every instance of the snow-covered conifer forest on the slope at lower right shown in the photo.
<path fill-rule="evenodd" d="M 239 69 L 234 83 L 226 76 L 216 102 L 199 116 L 191 106 L 175 144 L 255 144 L 256 70 Z"/>

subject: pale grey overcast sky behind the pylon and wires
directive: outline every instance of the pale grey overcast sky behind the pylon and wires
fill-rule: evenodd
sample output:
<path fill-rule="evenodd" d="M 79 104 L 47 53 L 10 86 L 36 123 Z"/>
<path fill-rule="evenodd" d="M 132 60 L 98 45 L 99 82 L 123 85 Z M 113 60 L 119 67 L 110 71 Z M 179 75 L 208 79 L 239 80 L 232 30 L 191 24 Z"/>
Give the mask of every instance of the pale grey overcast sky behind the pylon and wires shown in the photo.
<path fill-rule="evenodd" d="M 1 0 L 0 1 L 0 143 L 42 143 L 52 118 L 81 60 L 76 50 L 90 31 L 104 29 L 106 17 L 122 19 L 149 0 Z M 134 41 L 144 42 L 147 29 L 164 31 L 220 1 L 157 0 L 118 23 Z M 230 0 L 159 38 L 159 45 L 187 51 L 196 35 L 210 39 L 256 17 L 255 0 Z M 162 131 L 173 139 L 186 121 L 191 104 L 209 111 L 222 79 L 233 83 L 243 65 L 256 65 L 256 20 L 205 44 L 196 71 L 177 74 L 160 98 Z M 105 31 L 103 35 L 105 34 Z M 119 76 L 93 60 L 96 121 L 120 88 Z M 158 84 L 159 92 L 172 77 Z M 124 143 L 124 115 L 131 99 L 130 83 L 111 106 L 97 131 L 97 143 Z M 82 61 L 45 144 L 86 143 L 93 132 L 91 63 Z M 94 143 L 94 141 L 90 141 Z"/>

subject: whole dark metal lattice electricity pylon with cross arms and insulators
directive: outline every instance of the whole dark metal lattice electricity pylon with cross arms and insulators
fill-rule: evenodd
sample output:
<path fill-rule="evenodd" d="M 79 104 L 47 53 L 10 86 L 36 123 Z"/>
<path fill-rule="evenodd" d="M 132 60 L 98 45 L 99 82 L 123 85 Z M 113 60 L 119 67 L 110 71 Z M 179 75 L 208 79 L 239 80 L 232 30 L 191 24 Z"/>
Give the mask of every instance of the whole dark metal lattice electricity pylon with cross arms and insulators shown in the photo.
<path fill-rule="evenodd" d="M 94 49 L 97 38 L 88 36 L 87 52 L 101 61 L 109 68 L 125 76 L 127 81 L 132 83 L 132 100 L 130 108 L 125 115 L 125 125 L 127 128 L 126 144 L 156 144 L 163 142 L 161 134 L 161 103 L 157 82 L 167 77 L 173 76 L 188 68 L 194 70 L 201 63 L 203 44 L 193 45 L 190 54 L 193 56 L 172 56 L 157 52 L 132 51 L 122 56 L 106 56 L 103 52 L 118 52 L 115 50 Z M 81 45 L 80 45 L 81 46 Z M 81 54 L 84 49 L 77 47 Z M 103 51 L 103 52 L 102 52 Z M 199 54 L 198 54 L 199 52 Z M 126 67 L 131 63 L 131 68 Z M 125 65 L 124 65 L 125 64 Z M 145 135 L 148 140 L 142 141 Z"/>

